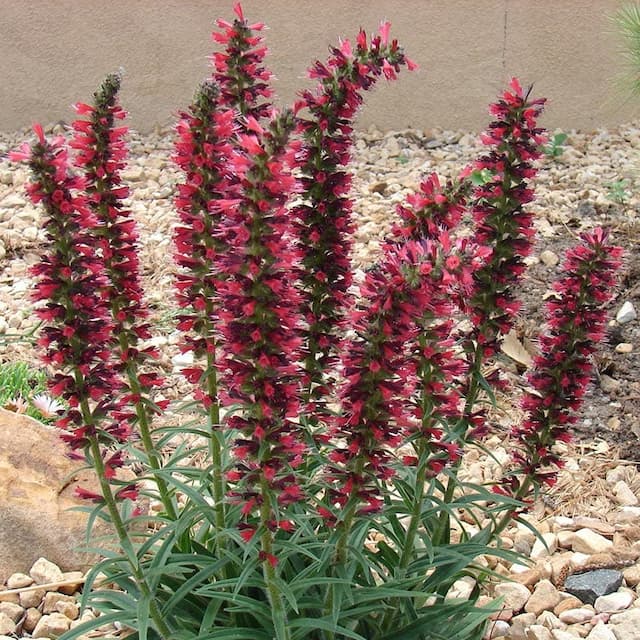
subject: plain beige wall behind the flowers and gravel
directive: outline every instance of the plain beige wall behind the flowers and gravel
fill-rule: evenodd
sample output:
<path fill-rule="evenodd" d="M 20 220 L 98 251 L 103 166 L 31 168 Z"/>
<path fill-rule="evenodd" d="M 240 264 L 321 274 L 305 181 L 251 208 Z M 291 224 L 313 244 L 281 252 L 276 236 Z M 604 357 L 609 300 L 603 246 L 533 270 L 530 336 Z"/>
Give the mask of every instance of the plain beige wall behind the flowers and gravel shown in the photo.
<path fill-rule="evenodd" d="M 208 74 L 213 21 L 233 0 L 0 0 L 0 130 L 68 121 L 124 67 L 122 100 L 143 131 L 169 123 Z M 640 99 L 615 87 L 613 0 L 245 0 L 269 25 L 270 67 L 288 103 L 305 69 L 360 25 L 393 23 L 421 67 L 368 99 L 360 126 L 483 127 L 486 107 L 516 74 L 549 98 L 547 127 L 591 130 L 632 119 Z M 384 85 L 384 83 L 381 83 Z"/>

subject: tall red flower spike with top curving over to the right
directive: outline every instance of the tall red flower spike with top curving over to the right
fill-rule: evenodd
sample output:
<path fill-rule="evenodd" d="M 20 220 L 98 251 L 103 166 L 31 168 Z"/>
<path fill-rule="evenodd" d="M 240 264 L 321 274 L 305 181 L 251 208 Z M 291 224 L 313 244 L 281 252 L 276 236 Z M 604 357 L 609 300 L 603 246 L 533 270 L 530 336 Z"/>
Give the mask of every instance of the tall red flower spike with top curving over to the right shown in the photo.
<path fill-rule="evenodd" d="M 352 121 L 362 93 L 384 75 L 395 79 L 402 66 L 416 65 L 397 40 L 389 40 L 389 24 L 371 42 L 361 31 L 354 43 L 341 42 L 326 64 L 316 62 L 309 76 L 315 91 L 304 91 L 295 105 L 300 153 L 302 204 L 294 209 L 302 251 L 304 315 L 308 324 L 305 360 L 310 413 L 326 395 L 325 371 L 335 360 L 337 323 L 349 305 L 349 254 L 352 244 L 351 175 L 346 170 L 353 144 Z M 303 113 L 301 113 L 303 112 Z"/>

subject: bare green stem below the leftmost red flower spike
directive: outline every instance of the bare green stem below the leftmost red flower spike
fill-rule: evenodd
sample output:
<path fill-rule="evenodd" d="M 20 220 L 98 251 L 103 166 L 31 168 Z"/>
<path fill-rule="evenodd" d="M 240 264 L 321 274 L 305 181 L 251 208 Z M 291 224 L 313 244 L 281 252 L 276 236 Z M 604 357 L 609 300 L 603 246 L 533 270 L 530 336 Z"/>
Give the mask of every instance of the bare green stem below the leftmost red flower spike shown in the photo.
<path fill-rule="evenodd" d="M 76 378 L 78 377 L 81 377 L 81 374 L 79 372 L 76 372 Z M 81 400 L 80 408 L 82 411 L 83 419 L 85 420 L 85 424 L 87 424 L 88 426 L 93 426 L 93 415 L 86 399 Z M 125 552 L 125 556 L 127 557 L 129 567 L 131 568 L 131 573 L 136 581 L 136 584 L 138 585 L 138 588 L 140 589 L 142 597 L 149 602 L 149 615 L 153 620 L 156 630 L 158 631 L 160 636 L 166 640 L 171 636 L 171 630 L 165 623 L 156 602 L 152 598 L 151 589 L 147 584 L 144 572 L 142 571 L 142 568 L 140 567 L 140 564 L 138 562 L 138 557 L 133 542 L 129 536 L 127 527 L 122 520 L 122 517 L 120 516 L 120 511 L 118 510 L 115 496 L 113 495 L 111 485 L 109 484 L 109 480 L 107 479 L 105 473 L 106 469 L 104 460 L 102 458 L 102 452 L 100 451 L 100 443 L 98 442 L 98 438 L 96 436 L 89 437 L 89 450 L 93 461 L 93 468 L 96 472 L 98 482 L 100 483 L 100 491 L 102 493 L 105 506 L 107 507 L 107 511 L 109 512 L 111 523 L 116 530 L 120 545 Z"/>

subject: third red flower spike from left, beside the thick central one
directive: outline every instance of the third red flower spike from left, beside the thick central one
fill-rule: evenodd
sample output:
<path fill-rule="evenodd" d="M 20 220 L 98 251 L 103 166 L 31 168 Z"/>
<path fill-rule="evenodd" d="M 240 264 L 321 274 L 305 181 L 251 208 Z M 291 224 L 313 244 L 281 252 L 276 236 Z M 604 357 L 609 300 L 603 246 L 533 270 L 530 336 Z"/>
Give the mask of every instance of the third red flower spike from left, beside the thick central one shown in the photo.
<path fill-rule="evenodd" d="M 225 244 L 216 234 L 228 208 L 239 202 L 232 197 L 236 178 L 228 164 L 235 115 L 229 109 L 219 110 L 218 100 L 214 83 L 200 87 L 189 110 L 181 114 L 174 154 L 185 174 L 185 182 L 177 186 L 180 224 L 174 232 L 176 262 L 182 268 L 176 276 L 182 309 L 178 328 L 185 336 L 182 349 L 207 359 L 206 369 L 194 366 L 184 371 L 198 385 L 196 396 L 205 407 L 218 401 L 212 367 L 217 342 L 216 291 Z"/>

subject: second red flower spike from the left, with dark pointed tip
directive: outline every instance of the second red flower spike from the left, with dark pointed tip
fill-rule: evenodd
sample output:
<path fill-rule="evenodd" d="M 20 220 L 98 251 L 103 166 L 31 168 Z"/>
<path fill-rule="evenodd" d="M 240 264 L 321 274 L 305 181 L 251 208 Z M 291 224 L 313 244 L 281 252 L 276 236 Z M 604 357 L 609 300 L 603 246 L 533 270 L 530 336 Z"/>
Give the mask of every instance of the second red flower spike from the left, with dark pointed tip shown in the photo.
<path fill-rule="evenodd" d="M 149 339 L 151 333 L 140 285 L 138 232 L 131 212 L 123 205 L 123 199 L 129 195 L 120 176 L 126 166 L 128 129 L 115 126 L 116 120 L 126 117 L 118 103 L 119 90 L 119 76 L 109 75 L 95 93 L 93 105 L 75 105 L 76 112 L 86 119 L 73 123 L 75 135 L 69 146 L 76 149 L 74 163 L 84 172 L 87 202 L 99 222 L 92 229 L 92 236 L 109 279 L 104 293 L 114 322 L 111 343 L 119 360 L 116 366 L 133 374 L 138 365 L 156 357 L 157 352 L 153 347 L 138 348 L 139 341 Z M 162 379 L 153 372 L 135 377 L 135 388 L 131 388 L 131 382 L 124 383 L 129 389 L 121 405 L 131 400 L 137 402 L 141 395 L 148 396 L 162 384 Z M 144 404 L 146 411 L 152 411 L 152 406 Z M 136 414 L 124 408 L 117 417 L 136 420 Z"/>

